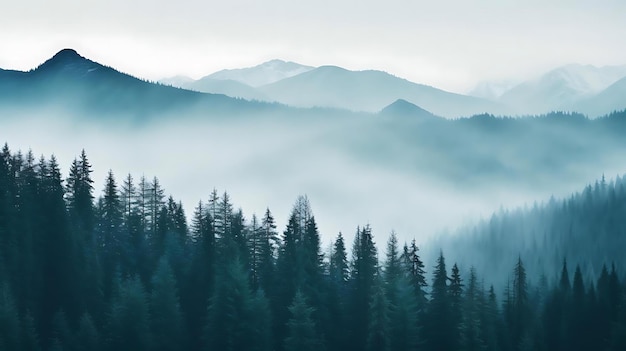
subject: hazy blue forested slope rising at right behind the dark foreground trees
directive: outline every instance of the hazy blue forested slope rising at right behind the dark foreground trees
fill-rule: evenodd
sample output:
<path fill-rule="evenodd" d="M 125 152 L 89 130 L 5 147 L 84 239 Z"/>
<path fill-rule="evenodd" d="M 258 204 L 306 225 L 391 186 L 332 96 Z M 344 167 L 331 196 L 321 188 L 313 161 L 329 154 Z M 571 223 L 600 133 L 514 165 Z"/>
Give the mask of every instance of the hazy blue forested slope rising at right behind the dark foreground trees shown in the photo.
<path fill-rule="evenodd" d="M 518 255 L 525 257 L 534 282 L 556 280 L 563 260 L 580 264 L 585 278 L 597 279 L 604 264 L 626 266 L 626 180 L 603 176 L 563 200 L 501 210 L 473 228 L 438 240 L 464 264 L 505 282 Z"/>

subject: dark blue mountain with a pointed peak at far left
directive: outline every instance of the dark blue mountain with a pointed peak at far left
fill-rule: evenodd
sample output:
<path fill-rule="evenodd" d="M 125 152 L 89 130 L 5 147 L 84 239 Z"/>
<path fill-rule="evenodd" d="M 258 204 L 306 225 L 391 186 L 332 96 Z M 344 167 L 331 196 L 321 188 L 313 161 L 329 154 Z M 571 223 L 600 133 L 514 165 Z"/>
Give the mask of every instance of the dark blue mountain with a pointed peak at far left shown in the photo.
<path fill-rule="evenodd" d="M 0 103 L 79 112 L 145 116 L 181 110 L 239 111 L 264 105 L 140 80 L 80 56 L 59 51 L 28 71 L 0 72 Z"/>

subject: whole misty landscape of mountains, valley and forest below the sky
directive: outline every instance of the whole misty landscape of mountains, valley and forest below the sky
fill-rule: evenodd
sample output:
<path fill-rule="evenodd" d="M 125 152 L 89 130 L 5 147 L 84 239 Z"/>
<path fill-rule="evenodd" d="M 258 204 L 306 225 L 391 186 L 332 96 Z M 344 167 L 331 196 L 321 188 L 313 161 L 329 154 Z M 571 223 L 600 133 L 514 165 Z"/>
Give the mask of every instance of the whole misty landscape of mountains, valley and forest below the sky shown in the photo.
<path fill-rule="evenodd" d="M 183 78 L 0 69 L 0 350 L 626 350 L 623 67 Z"/>

